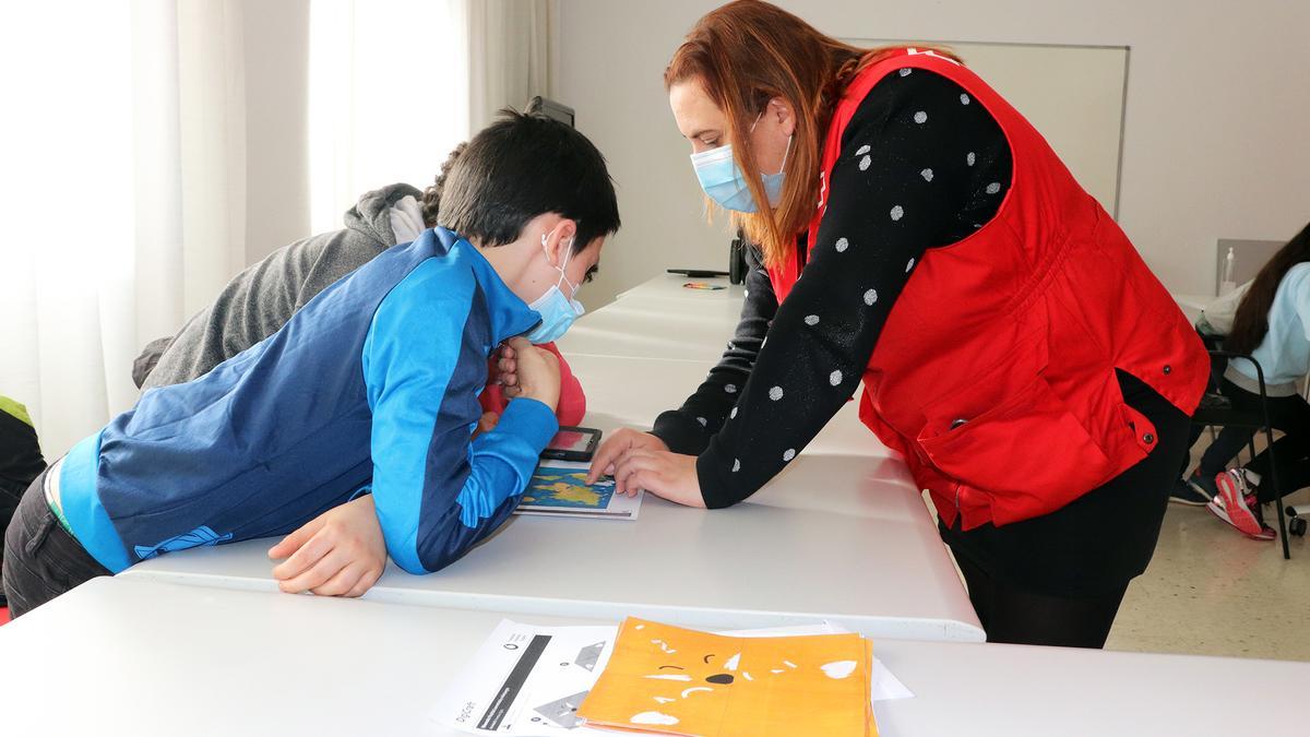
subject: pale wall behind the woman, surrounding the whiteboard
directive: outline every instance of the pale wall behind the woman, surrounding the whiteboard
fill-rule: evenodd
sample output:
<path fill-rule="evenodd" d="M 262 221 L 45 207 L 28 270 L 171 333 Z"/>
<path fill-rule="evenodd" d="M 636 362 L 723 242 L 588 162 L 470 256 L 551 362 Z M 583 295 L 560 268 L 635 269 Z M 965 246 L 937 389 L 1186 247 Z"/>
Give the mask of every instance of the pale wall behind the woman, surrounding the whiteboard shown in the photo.
<path fill-rule="evenodd" d="M 1220 237 L 1310 220 L 1310 3 L 787 0 L 845 38 L 1131 47 L 1120 223 L 1171 290 L 1210 292 Z M 660 75 L 711 0 L 562 0 L 559 98 L 610 163 L 624 229 L 584 300 L 668 266 L 724 268 Z M 1061 80 L 1077 85 L 1078 80 Z"/>

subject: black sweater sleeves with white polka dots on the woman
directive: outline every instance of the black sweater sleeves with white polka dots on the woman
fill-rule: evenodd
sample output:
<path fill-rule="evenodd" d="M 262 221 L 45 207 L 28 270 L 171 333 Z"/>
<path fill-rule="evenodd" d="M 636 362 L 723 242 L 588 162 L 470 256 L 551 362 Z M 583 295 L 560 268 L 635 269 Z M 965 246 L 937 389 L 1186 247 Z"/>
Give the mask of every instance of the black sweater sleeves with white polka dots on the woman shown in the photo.
<path fill-rule="evenodd" d="M 899 73 L 905 77 L 912 76 L 912 71 L 905 68 Z M 810 302 L 795 304 L 790 317 L 785 319 L 786 323 L 799 316 L 800 325 L 779 325 L 782 337 L 778 340 L 782 342 L 774 348 L 793 350 L 799 345 L 804 353 L 790 354 L 795 357 L 796 366 L 787 366 L 786 362 L 779 366 L 758 366 L 752 361 L 751 354 L 762 354 L 768 344 L 765 338 L 770 323 L 766 319 L 769 313 L 753 313 L 748 333 L 752 337 L 743 337 L 740 346 L 736 346 L 734 337 L 730 345 L 736 349 L 724 358 L 726 362 L 736 362 L 732 367 L 743 365 L 747 370 L 755 368 L 751 422 L 738 416 L 738 395 L 745 396 L 747 387 L 735 382 L 743 382 L 744 372 L 715 378 L 705 387 L 705 404 L 689 403 L 683 410 L 684 417 L 694 418 L 705 428 L 698 434 L 694 425 L 686 426 L 684 420 L 683 431 L 688 433 L 689 441 L 709 433 L 706 418 L 713 417 L 715 424 L 723 425 L 713 450 L 718 452 L 714 458 L 718 459 L 719 468 L 728 467 L 732 471 L 728 475 L 731 481 L 724 479 L 726 489 L 719 494 L 722 498 L 710 501 L 731 502 L 740 496 L 739 492 L 748 494 L 762 480 L 758 477 L 781 468 L 778 456 L 782 456 L 783 464 L 795 460 L 800 451 L 795 447 L 796 441 L 811 437 L 814 428 L 810 425 L 817 424 L 817 416 L 811 417 L 816 413 L 810 412 L 808 407 L 844 401 L 858 387 L 863 363 L 861 357 L 849 353 L 863 345 L 858 340 L 861 336 L 867 336 L 867 330 L 876 329 L 883 323 L 887 315 L 884 307 L 892 307 L 896 294 L 918 266 L 918 256 L 933 245 L 926 243 L 934 237 L 929 233 L 935 233 L 934 228 L 939 223 L 950 223 L 948 232 L 954 239 L 963 237 L 956 235 L 960 229 L 965 235 L 972 232 L 969 226 L 990 218 L 990 210 L 1000 206 L 1001 194 L 1010 185 L 1007 173 L 1002 172 L 1009 163 L 1003 132 L 996 127 L 994 121 L 986 121 L 986 108 L 973 105 L 972 93 L 959 85 L 943 87 L 937 81 L 937 75 L 913 76 L 913 80 L 882 85 L 888 98 L 899 105 L 880 106 L 874 101 L 862 106 L 849 129 L 853 132 L 849 138 L 852 144 L 841 151 L 852 159 L 842 159 L 831 177 L 820 177 L 820 206 L 832 209 L 825 220 L 831 223 L 831 232 L 841 236 L 824 233 L 824 239 L 816 245 L 827 248 L 831 244 L 832 250 L 840 256 L 812 260 L 812 277 L 819 278 L 820 283 L 829 279 L 829 286 L 825 287 L 825 294 L 808 294 Z M 891 79 L 899 77 L 892 75 Z M 887 110 L 896 113 L 888 118 Z M 927 126 L 929 122 L 933 126 Z M 982 135 L 965 135 L 967 132 Z M 875 143 L 879 149 L 876 161 L 872 156 Z M 964 148 L 964 156 L 959 155 L 960 148 Z M 962 160 L 967 164 L 963 170 L 959 168 Z M 827 181 L 829 178 L 833 181 Z M 956 181 L 964 185 L 971 180 L 973 184 L 954 186 Z M 927 189 L 921 182 L 927 184 Z M 848 189 L 862 190 L 865 197 L 831 201 L 833 191 Z M 914 199 L 916 197 L 920 199 Z M 872 211 L 869 205 L 872 205 Z M 876 215 L 879 207 L 883 209 L 883 216 Z M 951 207 L 960 210 L 952 211 Z M 909 218 L 909 214 L 914 216 Z M 956 219 L 950 220 L 951 215 L 956 215 Z M 859 248 L 854 248 L 855 241 Z M 891 271 L 897 262 L 904 266 L 901 275 Z M 883 290 L 889 291 L 880 295 Z M 833 299 L 849 307 L 842 312 L 827 307 L 825 303 Z M 852 300 L 863 300 L 865 311 Z M 806 350 L 827 342 L 841 351 Z M 796 384 L 794 376 L 789 375 L 796 370 L 800 371 L 799 375 L 811 376 L 808 380 L 814 384 Z M 825 379 L 831 392 L 823 391 Z M 782 387 L 783 382 L 790 388 Z M 696 417 L 697 414 L 701 417 Z M 760 426 L 774 429 L 770 433 L 773 442 L 757 442 L 755 430 Z M 778 450 L 779 445 L 782 450 Z M 774 454 L 772 459 L 769 454 Z M 740 473 L 747 464 L 752 468 L 751 473 Z M 715 494 L 707 494 L 713 496 Z"/>

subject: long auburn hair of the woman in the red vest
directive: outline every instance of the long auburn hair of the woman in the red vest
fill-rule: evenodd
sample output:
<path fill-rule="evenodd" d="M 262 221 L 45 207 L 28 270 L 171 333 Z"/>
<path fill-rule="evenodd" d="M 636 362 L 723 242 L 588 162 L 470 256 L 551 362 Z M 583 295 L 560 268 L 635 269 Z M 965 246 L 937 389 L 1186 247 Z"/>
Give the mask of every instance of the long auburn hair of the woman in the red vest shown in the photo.
<path fill-rule="evenodd" d="M 760 244 L 769 266 L 795 253 L 796 235 L 815 215 L 821 138 L 842 90 L 861 70 L 899 49 L 859 49 L 819 33 L 777 5 L 736 0 L 697 21 L 673 52 L 664 70 L 664 89 L 700 81 L 723 110 L 734 157 L 756 202 L 756 212 L 732 212 L 731 220 Z M 947 50 L 934 50 L 959 60 Z M 782 194 L 777 207 L 769 207 L 749 131 L 776 97 L 791 105 L 795 132 L 783 167 Z"/>

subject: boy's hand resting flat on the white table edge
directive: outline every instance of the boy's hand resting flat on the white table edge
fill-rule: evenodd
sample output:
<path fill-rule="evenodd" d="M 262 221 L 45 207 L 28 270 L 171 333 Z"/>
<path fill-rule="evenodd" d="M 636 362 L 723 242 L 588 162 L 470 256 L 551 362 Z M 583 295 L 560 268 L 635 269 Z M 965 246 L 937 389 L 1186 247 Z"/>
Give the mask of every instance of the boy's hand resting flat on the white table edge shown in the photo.
<path fill-rule="evenodd" d="M 320 514 L 283 538 L 269 557 L 287 559 L 272 569 L 272 577 L 288 594 L 363 595 L 386 568 L 386 542 L 373 496 L 364 494 Z"/>

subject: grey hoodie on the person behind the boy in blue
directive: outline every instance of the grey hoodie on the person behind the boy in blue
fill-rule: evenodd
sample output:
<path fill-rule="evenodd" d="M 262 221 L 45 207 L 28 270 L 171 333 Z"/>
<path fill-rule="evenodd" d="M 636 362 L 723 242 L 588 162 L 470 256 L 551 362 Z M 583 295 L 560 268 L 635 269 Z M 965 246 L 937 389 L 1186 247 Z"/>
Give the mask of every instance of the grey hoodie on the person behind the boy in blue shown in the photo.
<path fill-rule="evenodd" d="M 249 266 L 177 336 L 151 342 L 132 379 L 147 389 L 190 382 L 278 332 L 314 295 L 396 245 L 392 211 L 406 197 L 422 199 L 422 193 L 406 184 L 369 191 L 346 212 L 345 228 L 299 240 Z"/>

